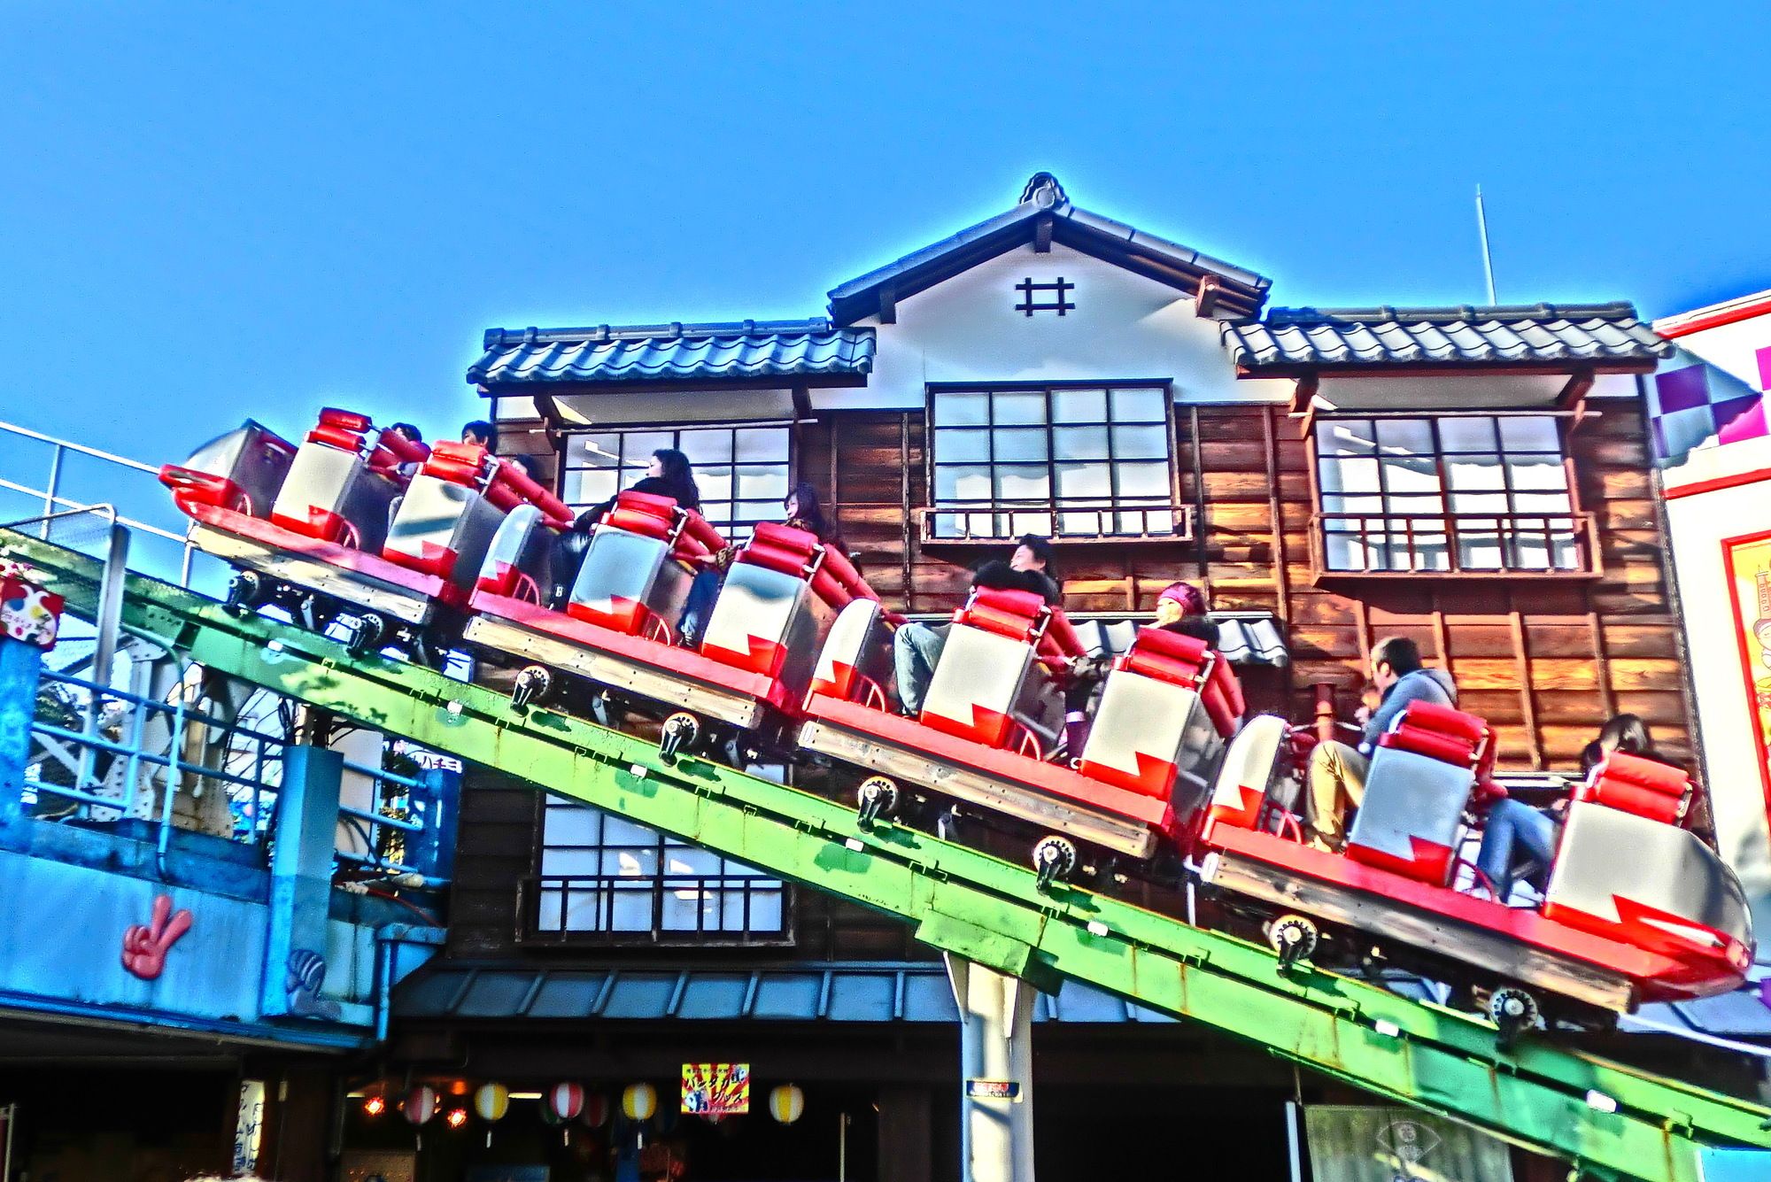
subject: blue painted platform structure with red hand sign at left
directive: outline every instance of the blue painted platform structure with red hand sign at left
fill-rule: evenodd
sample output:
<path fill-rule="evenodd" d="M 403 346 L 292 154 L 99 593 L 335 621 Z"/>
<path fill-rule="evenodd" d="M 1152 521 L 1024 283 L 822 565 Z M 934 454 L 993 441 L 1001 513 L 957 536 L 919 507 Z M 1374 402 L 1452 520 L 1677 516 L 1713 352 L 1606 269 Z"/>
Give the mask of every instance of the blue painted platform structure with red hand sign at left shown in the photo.
<path fill-rule="evenodd" d="M 27 800 L 35 794 L 90 796 L 87 786 L 51 787 L 28 771 L 34 727 L 39 738 L 78 741 L 69 740 L 73 731 L 35 718 L 41 683 L 41 653 L 0 639 L 0 1009 L 7 1017 L 122 1023 L 308 1051 L 358 1049 L 383 1037 L 393 984 L 434 954 L 441 929 L 413 924 L 411 902 L 333 885 L 342 756 L 285 745 L 273 825 L 264 830 L 253 817 L 244 840 L 177 828 L 170 805 L 158 823 L 90 803 L 74 819 L 32 816 Z M 158 706 L 113 697 L 136 710 Z M 120 729 L 140 741 L 140 725 Z M 97 736 L 89 745 L 128 759 L 131 773 L 154 759 L 186 770 L 177 756 L 128 750 Z M 421 825 L 402 823 L 421 865 L 395 871 L 448 872 L 439 844 L 453 848 L 452 780 L 427 773 L 414 782 L 423 816 L 446 817 L 446 825 L 425 833 Z M 260 837 L 273 839 L 273 853 Z M 128 933 L 152 927 L 161 899 L 159 915 L 170 924 L 149 940 L 165 947 L 163 970 L 133 971 L 124 956 Z M 189 915 L 182 931 L 181 913 Z"/>

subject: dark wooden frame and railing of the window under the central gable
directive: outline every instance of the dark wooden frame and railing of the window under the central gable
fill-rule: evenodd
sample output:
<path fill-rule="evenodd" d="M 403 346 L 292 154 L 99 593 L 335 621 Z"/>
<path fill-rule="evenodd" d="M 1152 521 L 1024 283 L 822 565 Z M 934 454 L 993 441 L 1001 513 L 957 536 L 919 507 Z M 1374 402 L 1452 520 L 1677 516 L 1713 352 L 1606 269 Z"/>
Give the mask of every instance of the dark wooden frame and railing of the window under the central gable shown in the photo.
<path fill-rule="evenodd" d="M 921 520 L 921 531 L 919 531 L 921 543 L 924 547 L 1001 547 L 1001 545 L 1004 545 L 1008 541 L 1013 541 L 1022 533 L 1029 533 L 1029 531 L 1009 529 L 1009 533 L 1002 533 L 1002 534 L 999 534 L 999 533 L 990 533 L 990 534 L 940 534 L 940 533 L 935 531 L 935 522 L 937 522 L 939 517 L 969 518 L 972 515 L 988 515 L 988 517 L 992 517 L 992 526 L 994 526 L 995 518 L 999 518 L 999 517 L 1009 517 L 1011 518 L 1017 513 L 1048 515 L 1050 522 L 1052 522 L 1052 529 L 1050 531 L 1043 531 L 1043 533 L 1047 533 L 1047 536 L 1050 536 L 1050 540 L 1052 540 L 1054 545 L 1151 545 L 1151 543 L 1165 543 L 1165 541 L 1190 541 L 1194 538 L 1195 520 L 1194 520 L 1194 506 L 1183 503 L 1181 497 L 1179 497 L 1179 494 L 1178 494 L 1178 483 L 1176 483 L 1178 481 L 1178 457 L 1176 457 L 1178 444 L 1176 444 L 1176 430 L 1174 430 L 1174 389 L 1172 389 L 1172 386 L 1174 384 L 1171 380 L 1167 380 L 1167 379 L 1089 379 L 1089 380 L 1061 380 L 1061 382 L 1050 382 L 1050 380 L 1041 380 L 1041 382 L 930 382 L 924 388 L 924 396 L 923 396 L 923 425 L 924 425 L 923 426 L 923 487 L 926 490 L 926 497 L 928 499 L 926 499 L 926 508 L 919 510 L 921 518 L 923 518 Z M 1102 419 L 1102 421 L 1054 423 L 1052 421 L 1052 395 L 1059 393 L 1059 391 L 1075 391 L 1075 389 L 1100 389 L 1109 398 L 1107 418 Z M 1139 421 L 1132 421 L 1132 423 L 1118 423 L 1112 418 L 1112 403 L 1110 403 L 1110 396 L 1112 396 L 1110 391 L 1114 391 L 1114 389 L 1142 389 L 1142 391 L 1153 391 L 1153 393 L 1160 395 L 1162 405 L 1164 405 L 1162 419 L 1160 421 L 1158 419 L 1139 419 Z M 976 503 L 976 508 L 953 508 L 951 504 L 942 504 L 940 497 L 937 497 L 937 492 L 935 492 L 937 469 L 940 469 L 940 467 L 955 467 L 956 464 L 953 464 L 953 462 L 942 464 L 937 458 L 937 451 L 939 451 L 937 441 L 940 437 L 940 432 L 944 432 L 944 430 L 983 430 L 986 434 L 988 441 L 990 441 L 990 455 L 988 455 L 988 458 L 983 460 L 983 465 L 988 467 L 988 469 L 992 469 L 992 472 L 994 472 L 994 469 L 997 467 L 997 460 L 995 460 L 995 435 L 994 435 L 994 432 L 997 430 L 997 423 L 995 423 L 995 402 L 994 402 L 994 395 L 1004 395 L 1004 393 L 1041 395 L 1045 398 L 1045 419 L 1043 419 L 1043 428 L 1045 428 L 1045 460 L 1043 460 L 1043 465 L 1045 465 L 1047 481 L 1048 481 L 1047 483 L 1047 495 L 1040 497 L 1040 499 L 1025 499 L 1025 501 L 995 501 L 995 499 L 992 499 L 992 501 L 986 501 L 986 503 Z M 942 396 L 942 395 L 986 395 L 986 396 L 990 396 L 990 402 L 988 402 L 990 414 L 986 416 L 986 421 L 983 423 L 983 426 L 967 426 L 967 428 L 937 426 L 937 423 L 935 423 L 935 400 L 939 396 Z M 1040 425 L 1038 423 L 1017 423 L 1015 426 L 1029 426 L 1031 428 L 1031 426 L 1040 426 Z M 1137 462 L 1153 464 L 1155 462 L 1155 460 L 1116 460 L 1114 458 L 1114 444 L 1112 444 L 1112 428 L 1114 426 L 1160 426 L 1162 434 L 1164 434 L 1164 441 L 1165 441 L 1165 453 L 1167 453 L 1164 457 L 1164 464 L 1167 467 L 1167 480 L 1164 481 L 1164 485 L 1165 485 L 1167 492 L 1162 494 L 1160 497 L 1158 495 L 1148 495 L 1148 497 L 1126 497 L 1126 499 L 1121 499 L 1119 494 L 1116 494 L 1116 492 L 1109 492 L 1107 497 L 1093 497 L 1093 499 L 1086 499 L 1086 501 L 1084 499 L 1075 499 L 1075 497 L 1068 497 L 1068 499 L 1059 497 L 1057 495 L 1057 464 L 1061 464 L 1061 460 L 1056 457 L 1056 446 L 1054 446 L 1056 439 L 1054 439 L 1054 434 L 1056 434 L 1056 430 L 1068 428 L 1068 426 L 1094 426 L 1094 428 L 1103 428 L 1107 432 L 1107 457 L 1103 460 L 1100 460 L 1100 464 L 1107 465 L 1109 481 L 1116 480 L 1116 474 L 1114 474 L 1114 465 L 1116 464 L 1137 464 Z M 1025 464 L 1025 465 L 1031 467 L 1031 465 L 1040 464 L 1040 460 L 1027 460 L 1027 462 L 1008 460 L 1004 464 Z M 974 503 L 965 503 L 965 504 L 974 504 Z M 1079 508 L 1079 506 L 1082 506 L 1082 508 Z M 1109 518 L 1109 520 L 1112 520 L 1114 526 L 1118 526 L 1118 518 L 1119 517 L 1125 517 L 1125 515 L 1130 515 L 1130 513 L 1141 513 L 1142 515 L 1142 522 L 1144 522 L 1144 529 L 1137 531 L 1137 533 L 1118 533 L 1116 529 L 1112 529 L 1112 531 L 1109 531 L 1109 529 L 1096 529 L 1094 533 L 1061 533 L 1059 531 L 1059 522 L 1061 522 L 1061 517 L 1064 513 L 1071 513 L 1071 515 L 1091 515 L 1093 513 L 1094 520 L 1096 520 L 1096 526 L 1102 526 L 1103 518 Z M 1153 513 L 1167 515 L 1171 518 L 1172 526 L 1169 529 L 1155 529 L 1155 531 L 1149 529 L 1149 515 L 1153 515 Z M 1031 531 L 1031 533 L 1041 533 L 1041 531 Z"/>

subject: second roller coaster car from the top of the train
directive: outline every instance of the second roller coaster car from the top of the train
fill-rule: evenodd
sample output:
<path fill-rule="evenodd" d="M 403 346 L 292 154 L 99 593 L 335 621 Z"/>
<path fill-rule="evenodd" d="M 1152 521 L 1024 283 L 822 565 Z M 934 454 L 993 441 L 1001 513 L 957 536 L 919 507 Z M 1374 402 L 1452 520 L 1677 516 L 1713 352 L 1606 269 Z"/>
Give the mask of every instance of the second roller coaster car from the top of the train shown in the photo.
<path fill-rule="evenodd" d="M 731 561 L 698 649 L 677 648 L 692 568 L 724 540 L 669 497 L 623 492 L 599 522 L 563 610 L 482 587 L 466 639 L 533 662 L 515 704 L 553 688 L 565 671 L 625 699 L 680 711 L 666 720 L 664 750 L 707 731 L 746 731 L 767 743 L 770 724 L 797 718 L 813 658 L 838 610 L 873 600 L 848 563 L 816 536 L 760 524 Z"/>

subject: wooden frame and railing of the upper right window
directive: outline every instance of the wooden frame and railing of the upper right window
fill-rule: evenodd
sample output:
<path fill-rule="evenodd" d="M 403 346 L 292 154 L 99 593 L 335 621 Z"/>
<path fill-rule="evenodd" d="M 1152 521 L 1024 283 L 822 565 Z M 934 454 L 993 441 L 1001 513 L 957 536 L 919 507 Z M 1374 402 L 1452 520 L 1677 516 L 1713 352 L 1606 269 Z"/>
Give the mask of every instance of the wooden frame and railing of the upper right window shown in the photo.
<path fill-rule="evenodd" d="M 1495 419 L 1495 448 L 1496 448 L 1495 455 L 1500 458 L 1500 471 L 1502 471 L 1502 488 L 1496 490 L 1496 492 L 1500 492 L 1502 495 L 1507 497 L 1507 504 L 1509 504 L 1507 511 L 1504 511 L 1504 513 L 1477 513 L 1477 511 L 1458 513 L 1458 511 L 1454 511 L 1454 510 L 1449 508 L 1450 506 L 1450 497 L 1452 497 L 1454 490 L 1450 488 L 1450 481 L 1447 478 L 1447 469 L 1445 469 L 1447 455 L 1450 455 L 1450 457 L 1477 455 L 1477 453 L 1466 453 L 1466 451 L 1452 451 L 1452 453 L 1445 451 L 1445 446 L 1442 442 L 1440 423 L 1443 419 L 1452 419 L 1452 418 Z M 1500 426 L 1498 426 L 1500 419 L 1509 419 L 1509 418 L 1544 418 L 1544 419 L 1553 419 L 1557 423 L 1557 446 L 1558 446 L 1558 451 L 1560 451 L 1562 472 L 1564 472 L 1564 480 L 1566 480 L 1566 485 L 1567 485 L 1567 503 L 1569 503 L 1569 510 L 1566 513 L 1518 513 L 1518 511 L 1512 511 L 1511 506 L 1514 504 L 1514 494 L 1520 492 L 1520 490 L 1516 490 L 1514 485 L 1512 485 L 1512 471 L 1507 465 L 1509 451 L 1505 449 L 1505 444 L 1500 439 Z M 1442 504 L 1440 511 L 1436 511 L 1436 513 L 1390 513 L 1388 510 L 1381 510 L 1378 513 L 1328 513 L 1323 508 L 1323 504 L 1325 504 L 1325 501 L 1323 501 L 1325 494 L 1323 494 L 1323 488 L 1321 488 L 1321 464 L 1323 464 L 1321 435 L 1319 435 L 1321 428 L 1326 426 L 1326 425 L 1344 423 L 1344 421 L 1364 421 L 1364 423 L 1373 423 L 1373 426 L 1376 426 L 1376 423 L 1381 421 L 1381 419 L 1419 419 L 1419 421 L 1427 423 L 1427 428 L 1433 434 L 1433 464 L 1435 464 L 1435 467 L 1438 471 L 1438 495 L 1440 495 L 1440 504 Z M 1309 446 L 1311 446 L 1309 478 L 1311 478 L 1311 568 L 1314 572 L 1314 580 L 1318 584 L 1321 584 L 1321 582 L 1335 582 L 1335 580 L 1367 580 L 1367 579 L 1373 579 L 1373 580 L 1388 580 L 1388 579 L 1454 579 L 1454 580 L 1532 579 L 1532 580 L 1558 580 L 1558 582 L 1590 582 L 1590 580 L 1596 580 L 1596 579 L 1603 579 L 1605 577 L 1605 557 L 1603 557 L 1603 547 L 1601 547 L 1599 536 L 1597 536 L 1597 524 L 1596 524 L 1596 518 L 1594 518 L 1592 513 L 1582 510 L 1582 504 L 1580 504 L 1580 487 L 1578 487 L 1578 481 L 1574 480 L 1576 472 L 1574 472 L 1573 455 L 1569 451 L 1569 423 L 1571 421 L 1573 421 L 1573 414 L 1571 412 L 1566 412 L 1566 411 L 1543 411 L 1543 409 L 1516 409 L 1516 411 L 1509 411 L 1509 409 L 1493 409 L 1493 411 L 1488 411 L 1488 409 L 1484 409 L 1484 411 L 1452 411 L 1452 412 L 1440 411 L 1436 414 L 1435 412 L 1419 412 L 1419 411 L 1335 411 L 1335 412 L 1316 412 L 1316 414 L 1312 414 L 1311 421 L 1309 421 Z M 1543 451 L 1523 453 L 1521 451 L 1518 455 L 1548 455 L 1548 453 L 1543 453 Z M 1381 460 L 1381 457 L 1376 457 L 1376 453 L 1374 453 L 1374 458 Z M 1528 492 L 1535 492 L 1535 490 L 1523 490 L 1523 492 L 1528 494 Z M 1378 464 L 1378 492 L 1376 494 L 1346 494 L 1346 492 L 1337 492 L 1337 494 L 1326 494 L 1326 495 L 1378 495 L 1380 499 L 1381 497 L 1388 497 L 1388 492 L 1385 488 L 1385 476 L 1383 476 L 1383 465 L 1381 465 L 1381 462 Z M 1449 566 L 1447 568 L 1420 568 L 1420 570 L 1413 570 L 1413 568 L 1410 568 L 1410 570 L 1342 570 L 1342 568 L 1330 566 L 1328 564 L 1328 538 L 1330 538 L 1328 522 L 1330 520 L 1341 520 L 1341 518 L 1360 518 L 1360 520 L 1376 520 L 1376 522 L 1394 520 L 1394 518 L 1404 518 L 1408 522 L 1411 522 L 1413 518 L 1429 518 L 1429 520 L 1435 520 L 1435 522 L 1438 522 L 1442 526 L 1440 533 L 1427 534 L 1427 536 L 1442 538 L 1443 540 L 1443 549 L 1445 549 L 1445 556 L 1447 556 Z M 1574 566 L 1481 566 L 1481 568 L 1470 568 L 1470 570 L 1461 568 L 1458 564 L 1459 563 L 1459 557 L 1458 557 L 1458 554 L 1459 554 L 1458 518 L 1468 518 L 1472 522 L 1495 522 L 1493 533 L 1495 533 L 1496 538 L 1505 536 L 1509 533 L 1509 524 L 1511 524 L 1511 540 L 1498 543 L 1502 547 L 1502 554 L 1505 554 L 1505 547 L 1507 545 L 1518 545 L 1518 540 L 1528 540 L 1528 538 L 1535 536 L 1537 533 L 1543 534 L 1543 538 L 1544 538 L 1544 549 L 1548 552 L 1550 547 L 1553 545 L 1555 534 L 1562 533 L 1562 534 L 1569 536 L 1571 541 L 1573 541 L 1573 545 L 1574 545 L 1576 564 Z M 1530 522 L 1541 522 L 1541 526 L 1537 526 L 1535 529 L 1527 529 L 1525 526 L 1530 524 Z M 1551 527 L 1551 522 L 1555 522 L 1557 526 Z M 1564 522 L 1566 522 L 1566 527 L 1562 526 Z M 1339 536 L 1353 538 L 1353 540 L 1362 540 L 1362 538 L 1373 538 L 1374 536 L 1371 533 L 1351 533 L 1351 531 L 1334 531 L 1334 533 L 1339 534 Z M 1387 529 L 1383 529 L 1376 536 L 1380 536 L 1380 538 L 1385 540 L 1381 545 L 1390 545 L 1390 547 L 1397 545 L 1394 541 L 1394 538 L 1397 536 L 1394 533 L 1394 527 L 1387 527 Z M 1411 524 L 1404 526 L 1403 538 L 1406 540 L 1406 545 L 1408 545 L 1408 549 L 1411 552 L 1413 545 L 1415 545 L 1415 540 L 1413 540 L 1415 533 L 1413 533 L 1413 526 Z M 1369 550 L 1373 545 L 1378 545 L 1378 543 L 1367 540 L 1367 541 L 1358 541 L 1358 545 L 1362 545 L 1362 547 L 1365 547 Z M 1410 554 L 1410 557 L 1413 559 L 1413 554 Z"/>

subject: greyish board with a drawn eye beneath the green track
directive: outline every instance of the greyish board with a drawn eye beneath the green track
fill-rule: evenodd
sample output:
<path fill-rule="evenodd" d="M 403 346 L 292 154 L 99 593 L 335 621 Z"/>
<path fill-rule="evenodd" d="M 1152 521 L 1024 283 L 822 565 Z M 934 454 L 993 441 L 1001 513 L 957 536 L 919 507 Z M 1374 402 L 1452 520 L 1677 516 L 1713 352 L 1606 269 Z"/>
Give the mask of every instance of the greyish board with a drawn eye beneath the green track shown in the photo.
<path fill-rule="evenodd" d="M 1504 1141 L 1408 1108 L 1303 1109 L 1316 1182 L 1512 1182 Z"/>

